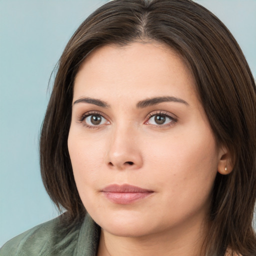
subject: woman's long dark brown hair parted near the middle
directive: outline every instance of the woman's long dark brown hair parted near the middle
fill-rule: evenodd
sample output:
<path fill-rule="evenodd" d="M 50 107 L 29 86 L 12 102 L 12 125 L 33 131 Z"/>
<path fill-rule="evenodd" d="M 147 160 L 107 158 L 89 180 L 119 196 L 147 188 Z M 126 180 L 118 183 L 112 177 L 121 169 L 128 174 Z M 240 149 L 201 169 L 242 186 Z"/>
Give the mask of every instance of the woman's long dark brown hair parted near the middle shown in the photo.
<path fill-rule="evenodd" d="M 191 0 L 113 0 L 75 31 L 60 57 L 41 129 L 41 175 L 49 196 L 73 223 L 83 218 L 67 149 L 74 77 L 96 47 L 141 40 L 163 42 L 185 59 L 215 139 L 232 156 L 232 172 L 218 173 L 214 182 L 206 255 L 221 256 L 230 248 L 231 254 L 255 256 L 255 83 L 228 29 Z"/>

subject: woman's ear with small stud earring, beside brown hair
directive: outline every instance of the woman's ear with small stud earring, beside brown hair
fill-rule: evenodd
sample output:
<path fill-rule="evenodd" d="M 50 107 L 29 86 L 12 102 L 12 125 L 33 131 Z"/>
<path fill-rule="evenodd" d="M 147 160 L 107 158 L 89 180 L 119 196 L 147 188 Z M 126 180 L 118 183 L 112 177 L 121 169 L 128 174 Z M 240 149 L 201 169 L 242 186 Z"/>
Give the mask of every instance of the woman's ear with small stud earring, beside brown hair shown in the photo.
<path fill-rule="evenodd" d="M 231 154 L 226 147 L 222 146 L 219 149 L 218 155 L 218 172 L 222 175 L 226 175 L 229 174 L 232 169 Z"/>

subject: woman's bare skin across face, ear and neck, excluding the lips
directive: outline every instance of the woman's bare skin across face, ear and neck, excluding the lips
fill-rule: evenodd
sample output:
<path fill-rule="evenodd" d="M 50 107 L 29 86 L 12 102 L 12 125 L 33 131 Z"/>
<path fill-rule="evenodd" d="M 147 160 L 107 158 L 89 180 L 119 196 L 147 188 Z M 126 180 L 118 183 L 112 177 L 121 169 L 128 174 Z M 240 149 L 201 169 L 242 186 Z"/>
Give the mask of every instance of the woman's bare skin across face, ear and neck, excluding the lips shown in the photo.
<path fill-rule="evenodd" d="M 81 65 L 68 150 L 81 200 L 102 228 L 98 256 L 200 255 L 212 185 L 228 153 L 217 148 L 194 88 L 181 57 L 157 42 L 105 45 Z M 166 96 L 182 102 L 137 107 Z M 98 124 L 92 115 L 102 116 Z M 118 204 L 102 192 L 110 184 L 153 193 Z"/>

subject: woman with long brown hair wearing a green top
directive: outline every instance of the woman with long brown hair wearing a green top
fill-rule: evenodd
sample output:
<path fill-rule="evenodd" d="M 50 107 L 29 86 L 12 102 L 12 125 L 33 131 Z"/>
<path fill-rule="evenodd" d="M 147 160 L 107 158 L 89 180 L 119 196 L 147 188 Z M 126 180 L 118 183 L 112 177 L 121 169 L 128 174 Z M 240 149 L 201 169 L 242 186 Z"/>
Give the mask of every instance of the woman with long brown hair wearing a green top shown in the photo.
<path fill-rule="evenodd" d="M 246 60 L 208 10 L 103 5 L 62 53 L 41 130 L 66 211 L 1 255 L 256 255 L 255 117 Z"/>

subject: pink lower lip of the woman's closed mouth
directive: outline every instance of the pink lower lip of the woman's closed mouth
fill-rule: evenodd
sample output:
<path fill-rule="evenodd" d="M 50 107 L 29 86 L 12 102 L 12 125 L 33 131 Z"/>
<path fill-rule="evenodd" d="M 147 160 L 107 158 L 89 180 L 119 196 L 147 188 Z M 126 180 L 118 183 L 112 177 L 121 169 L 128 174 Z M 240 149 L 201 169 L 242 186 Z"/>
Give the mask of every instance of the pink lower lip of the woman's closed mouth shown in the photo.
<path fill-rule="evenodd" d="M 120 192 L 103 192 L 106 198 L 114 203 L 118 204 L 130 204 L 132 202 L 141 200 L 153 192 L 130 192 L 130 193 L 120 193 Z"/>

